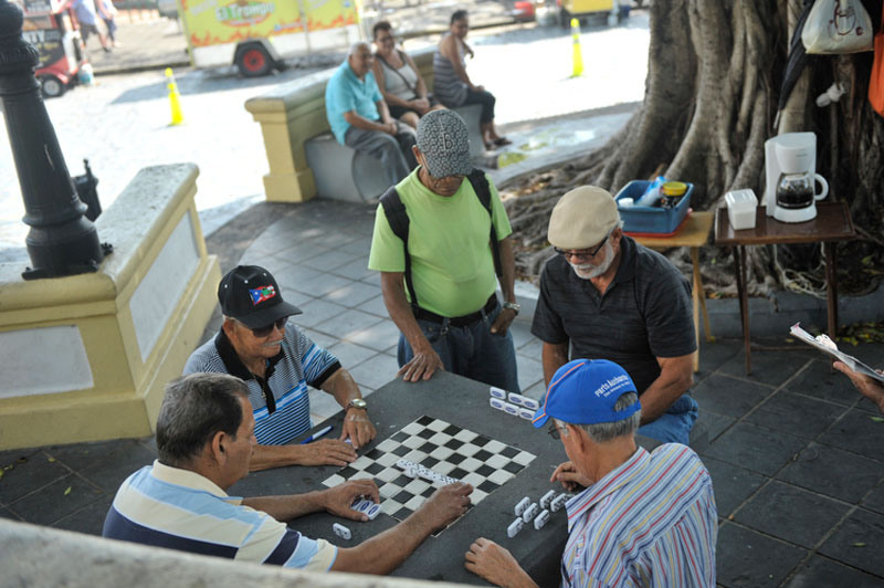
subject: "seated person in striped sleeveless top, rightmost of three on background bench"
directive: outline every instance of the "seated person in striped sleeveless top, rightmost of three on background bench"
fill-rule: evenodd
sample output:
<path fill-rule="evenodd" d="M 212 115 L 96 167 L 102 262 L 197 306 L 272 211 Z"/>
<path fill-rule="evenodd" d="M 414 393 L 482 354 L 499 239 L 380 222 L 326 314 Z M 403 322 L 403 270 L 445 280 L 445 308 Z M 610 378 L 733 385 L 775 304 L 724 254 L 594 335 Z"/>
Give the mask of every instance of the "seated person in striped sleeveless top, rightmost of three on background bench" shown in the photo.
<path fill-rule="evenodd" d="M 478 123 L 485 148 L 503 147 L 512 141 L 498 135 L 494 127 L 494 104 L 497 98 L 484 86 L 474 84 L 466 75 L 464 57 L 473 56 L 473 50 L 464 41 L 469 31 L 466 11 L 457 10 L 451 15 L 449 34 L 439 41 L 439 48 L 433 54 L 433 95 L 449 108 L 481 104 L 482 115 Z"/>

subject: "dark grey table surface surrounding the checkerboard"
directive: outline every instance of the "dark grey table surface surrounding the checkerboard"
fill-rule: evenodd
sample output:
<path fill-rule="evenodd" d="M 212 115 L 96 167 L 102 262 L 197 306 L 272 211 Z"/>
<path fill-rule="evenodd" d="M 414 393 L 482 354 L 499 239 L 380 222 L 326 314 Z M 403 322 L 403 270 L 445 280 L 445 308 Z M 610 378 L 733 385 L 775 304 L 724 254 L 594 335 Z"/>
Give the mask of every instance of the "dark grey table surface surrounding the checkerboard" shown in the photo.
<path fill-rule="evenodd" d="M 550 513 L 549 522 L 540 531 L 535 531 L 528 524 L 512 539 L 506 536 L 506 527 L 515 518 L 513 507 L 524 496 L 536 502 L 549 490 L 561 491 L 560 485 L 549 483 L 549 476 L 567 456 L 561 442 L 551 439 L 545 429 L 535 429 L 527 420 L 493 409 L 488 398 L 487 385 L 446 371 L 439 371 L 430 380 L 415 384 L 396 379 L 368 397 L 369 417 L 378 437 L 358 451 L 360 455 L 423 414 L 444 419 L 536 455 L 527 468 L 492 492 L 461 519 L 423 542 L 393 571 L 393 576 L 487 586 L 463 567 L 470 544 L 477 537 L 487 537 L 509 549 L 540 586 L 558 586 L 561 553 L 568 535 L 565 510 Z M 329 438 L 339 435 L 341 419 L 343 413 L 338 412 L 314 430 L 333 424 L 335 429 Z M 649 449 L 656 444 L 644 438 L 638 440 Z M 322 490 L 323 481 L 338 470 L 335 466 L 290 466 L 254 472 L 238 482 L 230 494 L 255 496 Z M 332 533 L 332 524 L 336 522 L 350 529 L 350 540 L 343 540 Z M 358 523 L 327 513 L 315 513 L 295 519 L 290 526 L 308 537 L 328 539 L 340 547 L 352 547 L 396 524 L 397 521 L 387 514 L 380 514 L 375 521 Z"/>

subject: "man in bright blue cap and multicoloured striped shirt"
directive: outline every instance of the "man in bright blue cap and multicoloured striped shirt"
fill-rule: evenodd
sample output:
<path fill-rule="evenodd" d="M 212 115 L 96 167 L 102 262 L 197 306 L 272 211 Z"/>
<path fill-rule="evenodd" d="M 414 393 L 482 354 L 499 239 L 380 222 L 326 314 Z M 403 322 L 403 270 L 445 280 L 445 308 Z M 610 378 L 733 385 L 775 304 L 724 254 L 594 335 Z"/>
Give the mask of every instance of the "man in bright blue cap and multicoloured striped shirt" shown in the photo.
<path fill-rule="evenodd" d="M 712 479 L 688 447 L 635 445 L 641 407 L 629 375 L 604 359 L 575 359 L 549 384 L 534 426 L 550 420 L 570 461 L 550 482 L 579 493 L 565 507 L 561 586 L 715 586 L 718 513 Z M 466 569 L 492 584 L 536 586 L 508 550 L 484 537 Z"/>

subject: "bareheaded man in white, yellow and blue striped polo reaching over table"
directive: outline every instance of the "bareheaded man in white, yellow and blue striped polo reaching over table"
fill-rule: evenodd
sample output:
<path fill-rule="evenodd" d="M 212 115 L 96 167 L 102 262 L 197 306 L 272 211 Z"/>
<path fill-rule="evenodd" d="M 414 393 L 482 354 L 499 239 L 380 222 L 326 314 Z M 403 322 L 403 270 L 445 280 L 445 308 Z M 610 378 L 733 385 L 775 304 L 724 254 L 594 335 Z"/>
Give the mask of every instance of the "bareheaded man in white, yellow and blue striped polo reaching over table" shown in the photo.
<path fill-rule="evenodd" d="M 193 374 L 166 387 L 157 417 L 159 459 L 117 491 L 102 535 L 155 547 L 312 571 L 388 574 L 433 531 L 466 512 L 472 486 L 438 490 L 406 521 L 352 548 L 337 548 L 283 521 L 327 511 L 355 521 L 358 496 L 379 500 L 371 480 L 292 494 L 240 498 L 227 490 L 249 475 L 255 419 L 239 378 Z"/>

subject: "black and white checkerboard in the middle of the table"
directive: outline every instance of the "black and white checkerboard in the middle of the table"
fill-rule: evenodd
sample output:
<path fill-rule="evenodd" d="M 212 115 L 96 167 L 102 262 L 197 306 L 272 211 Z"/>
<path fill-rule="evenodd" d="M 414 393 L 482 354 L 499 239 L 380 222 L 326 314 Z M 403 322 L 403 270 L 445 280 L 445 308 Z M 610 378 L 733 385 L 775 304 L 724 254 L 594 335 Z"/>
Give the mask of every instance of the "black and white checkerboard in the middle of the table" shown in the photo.
<path fill-rule="evenodd" d="M 412 479 L 397 468 L 404 459 L 473 485 L 473 505 L 506 484 L 535 455 L 483 434 L 423 416 L 385 439 L 365 455 L 323 481 L 336 486 L 347 480 L 373 479 L 380 490 L 381 508 L 404 521 L 434 491 L 428 481 Z"/>

